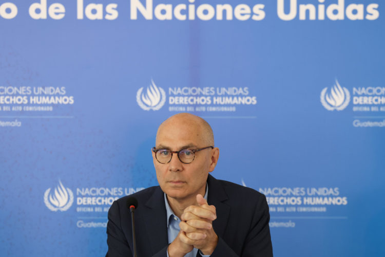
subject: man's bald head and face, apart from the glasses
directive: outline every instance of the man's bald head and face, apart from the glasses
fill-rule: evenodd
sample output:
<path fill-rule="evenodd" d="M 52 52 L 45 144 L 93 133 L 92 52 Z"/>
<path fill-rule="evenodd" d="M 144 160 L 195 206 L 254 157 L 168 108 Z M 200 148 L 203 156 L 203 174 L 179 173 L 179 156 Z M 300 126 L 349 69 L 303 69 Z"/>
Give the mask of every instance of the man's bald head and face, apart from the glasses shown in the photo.
<path fill-rule="evenodd" d="M 180 151 L 214 146 L 210 125 L 202 118 L 180 113 L 165 120 L 158 128 L 155 148 Z M 194 161 L 183 163 L 176 153 L 168 163 L 160 163 L 152 152 L 157 179 L 168 197 L 178 200 L 195 199 L 204 195 L 208 173 L 213 171 L 219 157 L 218 148 L 207 148 L 195 153 Z"/>

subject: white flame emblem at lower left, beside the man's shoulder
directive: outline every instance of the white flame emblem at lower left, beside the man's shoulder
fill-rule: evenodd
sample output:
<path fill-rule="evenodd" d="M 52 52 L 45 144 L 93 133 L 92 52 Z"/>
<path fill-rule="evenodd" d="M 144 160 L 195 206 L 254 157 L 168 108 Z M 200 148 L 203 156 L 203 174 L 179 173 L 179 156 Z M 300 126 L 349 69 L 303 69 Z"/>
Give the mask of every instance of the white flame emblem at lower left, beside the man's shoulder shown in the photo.
<path fill-rule="evenodd" d="M 65 188 L 62 181 L 59 180 L 59 185 L 53 192 L 49 188 L 44 193 L 44 203 L 51 211 L 66 211 L 73 203 L 73 193 L 69 188 Z"/>

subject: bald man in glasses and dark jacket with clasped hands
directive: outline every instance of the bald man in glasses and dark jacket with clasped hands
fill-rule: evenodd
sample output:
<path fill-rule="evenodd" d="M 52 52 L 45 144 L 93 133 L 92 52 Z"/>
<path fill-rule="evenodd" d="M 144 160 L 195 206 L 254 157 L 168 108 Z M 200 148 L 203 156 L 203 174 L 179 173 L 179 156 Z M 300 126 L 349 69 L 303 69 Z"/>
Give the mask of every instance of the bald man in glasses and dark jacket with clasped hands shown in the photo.
<path fill-rule="evenodd" d="M 159 126 L 152 149 L 159 186 L 132 195 L 139 257 L 273 256 L 265 196 L 209 175 L 218 157 L 202 118 L 181 113 Z M 108 212 L 106 256 L 133 256 L 126 200 Z"/>

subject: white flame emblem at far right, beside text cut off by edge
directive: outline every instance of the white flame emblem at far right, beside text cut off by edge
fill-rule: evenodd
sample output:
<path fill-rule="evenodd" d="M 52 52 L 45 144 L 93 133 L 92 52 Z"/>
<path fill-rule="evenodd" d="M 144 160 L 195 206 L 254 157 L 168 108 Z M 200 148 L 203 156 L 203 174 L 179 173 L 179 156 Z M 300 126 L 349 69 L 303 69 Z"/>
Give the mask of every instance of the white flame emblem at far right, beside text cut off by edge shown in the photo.
<path fill-rule="evenodd" d="M 350 102 L 349 90 L 345 87 L 341 87 L 338 81 L 330 90 L 327 92 L 328 87 L 325 87 L 321 91 L 321 103 L 325 109 L 329 111 L 341 111 L 346 108 Z"/>

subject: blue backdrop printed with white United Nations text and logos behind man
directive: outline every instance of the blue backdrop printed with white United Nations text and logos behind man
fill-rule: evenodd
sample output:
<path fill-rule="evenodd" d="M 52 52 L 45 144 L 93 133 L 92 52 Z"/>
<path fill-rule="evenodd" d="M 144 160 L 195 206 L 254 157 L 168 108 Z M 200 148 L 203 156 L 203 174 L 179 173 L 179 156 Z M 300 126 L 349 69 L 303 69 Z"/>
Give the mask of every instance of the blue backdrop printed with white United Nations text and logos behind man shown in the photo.
<path fill-rule="evenodd" d="M 267 196 L 275 256 L 381 256 L 378 0 L 0 1 L 0 251 L 103 256 L 150 149 L 205 118 L 215 177 Z"/>

